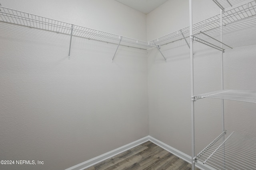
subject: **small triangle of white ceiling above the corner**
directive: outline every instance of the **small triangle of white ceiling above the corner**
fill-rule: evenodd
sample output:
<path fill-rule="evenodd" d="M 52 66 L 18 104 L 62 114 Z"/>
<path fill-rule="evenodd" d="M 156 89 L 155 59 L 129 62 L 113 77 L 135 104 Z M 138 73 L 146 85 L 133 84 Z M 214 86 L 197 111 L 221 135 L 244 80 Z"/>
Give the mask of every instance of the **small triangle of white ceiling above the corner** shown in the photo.
<path fill-rule="evenodd" d="M 168 0 L 116 0 L 137 11 L 148 14 Z"/>

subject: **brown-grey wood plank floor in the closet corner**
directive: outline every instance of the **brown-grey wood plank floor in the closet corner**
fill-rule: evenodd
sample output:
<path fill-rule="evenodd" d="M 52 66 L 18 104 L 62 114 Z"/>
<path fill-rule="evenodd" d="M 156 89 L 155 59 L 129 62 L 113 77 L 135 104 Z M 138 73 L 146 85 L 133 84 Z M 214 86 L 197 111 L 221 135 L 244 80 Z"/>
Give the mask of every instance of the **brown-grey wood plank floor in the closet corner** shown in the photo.
<path fill-rule="evenodd" d="M 191 164 L 148 141 L 85 170 L 191 170 Z"/>

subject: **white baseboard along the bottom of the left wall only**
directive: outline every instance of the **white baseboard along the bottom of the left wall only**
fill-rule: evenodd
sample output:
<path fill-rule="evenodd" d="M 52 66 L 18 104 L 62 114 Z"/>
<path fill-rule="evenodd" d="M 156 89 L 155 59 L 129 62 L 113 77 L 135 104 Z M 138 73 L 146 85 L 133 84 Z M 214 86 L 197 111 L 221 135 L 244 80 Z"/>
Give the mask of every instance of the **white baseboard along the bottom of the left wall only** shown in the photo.
<path fill-rule="evenodd" d="M 87 160 L 85 162 L 82 162 L 80 164 L 72 166 L 66 170 L 84 170 L 86 168 L 89 168 L 90 166 L 94 166 L 95 164 L 98 164 L 99 162 L 107 160 L 108 158 L 116 156 L 122 152 L 125 152 L 126 150 L 132 149 L 132 148 L 134 148 L 138 145 L 141 145 L 142 143 L 145 143 L 147 141 L 149 141 L 149 136 L 139 139 L 137 141 L 134 141 L 132 143 L 129 143 L 127 145 L 124 145 L 118 149 L 111 150 L 110 152 L 107 152 L 105 154 L 102 154 L 102 155 L 92 158 L 90 160 Z"/>

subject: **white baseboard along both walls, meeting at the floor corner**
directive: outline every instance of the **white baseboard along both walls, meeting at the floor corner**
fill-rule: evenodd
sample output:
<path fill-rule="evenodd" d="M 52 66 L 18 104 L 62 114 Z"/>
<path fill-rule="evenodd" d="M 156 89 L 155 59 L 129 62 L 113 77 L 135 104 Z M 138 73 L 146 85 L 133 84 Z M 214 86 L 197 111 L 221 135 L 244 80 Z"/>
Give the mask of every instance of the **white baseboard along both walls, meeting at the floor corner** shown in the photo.
<path fill-rule="evenodd" d="M 142 143 L 145 143 L 147 141 L 150 141 L 156 145 L 158 145 L 159 147 L 161 147 L 162 149 L 164 150 L 167 150 L 168 152 L 174 154 L 175 156 L 178 156 L 179 158 L 185 160 L 186 162 L 188 163 L 191 163 L 191 156 L 183 153 L 183 152 L 180 152 L 179 150 L 173 148 L 173 147 L 170 147 L 169 145 L 166 145 L 165 143 L 151 137 L 151 136 L 147 136 L 147 137 L 144 137 L 142 139 L 139 139 L 137 141 L 134 141 L 132 143 L 129 143 L 127 145 L 124 145 L 118 149 L 114 149 L 114 150 L 111 150 L 110 152 L 107 152 L 105 154 L 102 154 L 100 156 L 97 156 L 95 158 L 92 158 L 90 160 L 87 160 L 85 162 L 82 162 L 80 164 L 77 164 L 75 166 L 72 166 L 66 170 L 84 170 L 86 168 L 89 168 L 90 166 L 94 166 L 95 164 L 98 164 L 99 162 L 102 162 L 104 160 L 107 160 L 108 158 L 111 158 L 113 156 L 116 156 L 122 152 L 125 152 L 126 150 L 129 150 L 129 149 L 132 149 L 133 147 L 136 147 L 138 145 L 141 145 Z M 211 168 L 207 168 L 201 164 L 196 164 L 196 166 L 198 168 L 200 168 L 201 170 L 212 170 Z"/>

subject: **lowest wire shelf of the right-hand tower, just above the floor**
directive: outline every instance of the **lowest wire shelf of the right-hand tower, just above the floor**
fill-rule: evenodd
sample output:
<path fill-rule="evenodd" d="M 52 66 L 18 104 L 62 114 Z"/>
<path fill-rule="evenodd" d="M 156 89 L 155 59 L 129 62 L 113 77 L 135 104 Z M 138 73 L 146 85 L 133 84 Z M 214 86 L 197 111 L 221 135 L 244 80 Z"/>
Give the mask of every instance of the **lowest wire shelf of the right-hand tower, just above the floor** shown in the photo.
<path fill-rule="evenodd" d="M 225 130 L 194 160 L 216 170 L 255 170 L 256 139 Z"/>

